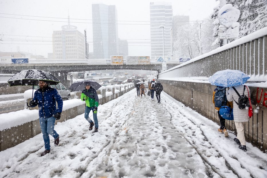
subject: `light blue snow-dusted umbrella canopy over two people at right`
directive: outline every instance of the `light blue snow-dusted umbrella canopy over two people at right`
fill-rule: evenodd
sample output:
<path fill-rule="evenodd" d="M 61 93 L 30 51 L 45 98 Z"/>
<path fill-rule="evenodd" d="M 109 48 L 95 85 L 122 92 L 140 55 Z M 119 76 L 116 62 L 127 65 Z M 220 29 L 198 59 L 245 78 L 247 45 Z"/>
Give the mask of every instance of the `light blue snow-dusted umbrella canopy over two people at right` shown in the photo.
<path fill-rule="evenodd" d="M 221 87 L 231 87 L 236 85 L 243 85 L 249 79 L 248 75 L 239 70 L 223 70 L 218 71 L 209 77 L 208 81 L 211 85 Z"/>

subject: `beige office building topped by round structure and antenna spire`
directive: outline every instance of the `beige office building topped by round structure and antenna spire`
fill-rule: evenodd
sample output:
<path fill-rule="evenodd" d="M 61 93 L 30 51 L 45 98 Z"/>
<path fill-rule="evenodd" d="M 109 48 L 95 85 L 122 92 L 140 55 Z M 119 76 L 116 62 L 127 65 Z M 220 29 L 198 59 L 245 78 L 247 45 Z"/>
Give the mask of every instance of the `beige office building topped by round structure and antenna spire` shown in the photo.
<path fill-rule="evenodd" d="M 60 31 L 53 31 L 53 58 L 54 59 L 85 59 L 84 35 L 77 30 L 76 26 L 68 25 L 61 27 Z"/>

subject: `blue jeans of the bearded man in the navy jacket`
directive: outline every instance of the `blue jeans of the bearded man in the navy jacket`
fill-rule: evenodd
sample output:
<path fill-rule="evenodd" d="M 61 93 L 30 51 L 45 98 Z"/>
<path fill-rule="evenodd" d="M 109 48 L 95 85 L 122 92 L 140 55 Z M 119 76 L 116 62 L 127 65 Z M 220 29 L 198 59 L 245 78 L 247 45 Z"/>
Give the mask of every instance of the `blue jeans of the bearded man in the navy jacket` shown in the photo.
<path fill-rule="evenodd" d="M 53 116 L 50 118 L 39 118 L 39 121 L 44 138 L 44 148 L 50 150 L 50 139 L 48 134 L 52 135 L 54 139 L 59 137 L 58 133 L 54 130 L 56 118 Z"/>

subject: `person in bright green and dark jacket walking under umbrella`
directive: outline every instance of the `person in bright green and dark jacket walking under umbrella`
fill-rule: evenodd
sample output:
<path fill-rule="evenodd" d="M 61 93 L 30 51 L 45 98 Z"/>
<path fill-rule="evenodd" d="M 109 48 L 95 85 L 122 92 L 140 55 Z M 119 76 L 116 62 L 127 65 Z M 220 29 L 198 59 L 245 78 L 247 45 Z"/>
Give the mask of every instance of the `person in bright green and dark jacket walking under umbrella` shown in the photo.
<path fill-rule="evenodd" d="M 82 91 L 81 100 L 85 101 L 86 103 L 84 117 L 90 123 L 89 130 L 92 130 L 93 126 L 95 125 L 95 132 L 98 132 L 97 107 L 99 99 L 97 91 L 87 84 L 85 89 Z M 95 123 L 89 118 L 89 113 L 91 110 L 93 111 Z"/>

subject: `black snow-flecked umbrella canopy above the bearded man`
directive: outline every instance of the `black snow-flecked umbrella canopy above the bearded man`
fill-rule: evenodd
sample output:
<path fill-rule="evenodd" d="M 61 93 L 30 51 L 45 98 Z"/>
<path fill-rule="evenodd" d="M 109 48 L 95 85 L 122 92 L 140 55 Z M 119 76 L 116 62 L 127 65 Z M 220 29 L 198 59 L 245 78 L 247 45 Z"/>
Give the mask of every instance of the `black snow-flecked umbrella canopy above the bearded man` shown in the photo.
<path fill-rule="evenodd" d="M 38 85 L 38 80 L 45 81 L 48 85 L 56 85 L 60 82 L 50 73 L 36 69 L 20 71 L 13 75 L 7 82 L 10 86 Z"/>

